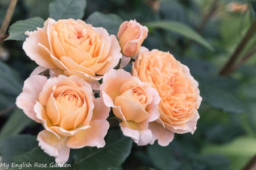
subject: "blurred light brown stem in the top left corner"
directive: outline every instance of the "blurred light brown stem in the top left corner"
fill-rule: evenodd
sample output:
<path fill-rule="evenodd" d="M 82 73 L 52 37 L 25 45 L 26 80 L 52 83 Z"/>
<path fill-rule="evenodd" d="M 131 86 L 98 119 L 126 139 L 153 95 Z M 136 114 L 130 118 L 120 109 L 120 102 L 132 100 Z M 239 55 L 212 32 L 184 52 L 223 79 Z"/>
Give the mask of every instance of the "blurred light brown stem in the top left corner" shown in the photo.
<path fill-rule="evenodd" d="M 10 24 L 11 16 L 13 16 L 13 12 L 14 12 L 17 1 L 18 0 L 11 0 L 11 2 L 10 2 L 7 13 L 5 15 L 5 19 L 3 19 L 3 23 L 2 23 L 1 28 L 0 28 L 0 38 L 5 36 L 5 34 L 6 34 L 6 31 L 7 31 L 7 28 L 9 26 L 9 24 Z M 0 44 L 2 42 L 3 41 L 1 41 Z"/>

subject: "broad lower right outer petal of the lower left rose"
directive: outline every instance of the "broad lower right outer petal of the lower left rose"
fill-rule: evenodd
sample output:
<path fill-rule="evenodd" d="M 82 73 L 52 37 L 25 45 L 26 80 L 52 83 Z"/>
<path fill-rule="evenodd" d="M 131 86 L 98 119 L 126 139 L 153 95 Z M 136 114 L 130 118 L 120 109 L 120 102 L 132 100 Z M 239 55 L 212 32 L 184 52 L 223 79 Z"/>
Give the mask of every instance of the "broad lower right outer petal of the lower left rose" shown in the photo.
<path fill-rule="evenodd" d="M 101 148 L 105 146 L 104 137 L 109 129 L 109 122 L 105 120 L 90 121 L 90 128 L 82 130 L 79 134 L 70 136 L 67 146 L 70 148 L 82 148 L 85 146 Z"/>

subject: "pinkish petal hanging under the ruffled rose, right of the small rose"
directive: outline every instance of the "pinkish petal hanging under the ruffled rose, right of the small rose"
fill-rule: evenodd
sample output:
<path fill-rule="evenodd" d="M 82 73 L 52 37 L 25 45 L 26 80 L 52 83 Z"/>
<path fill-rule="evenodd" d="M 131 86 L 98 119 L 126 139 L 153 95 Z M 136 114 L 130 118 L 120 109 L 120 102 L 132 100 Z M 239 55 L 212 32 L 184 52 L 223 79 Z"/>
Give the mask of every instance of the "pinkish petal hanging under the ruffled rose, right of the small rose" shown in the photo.
<path fill-rule="evenodd" d="M 158 139 L 160 146 L 167 146 L 174 139 L 174 132 L 164 128 L 157 122 L 150 122 L 148 128 L 151 130 L 153 138 L 150 144 L 153 144 Z"/>

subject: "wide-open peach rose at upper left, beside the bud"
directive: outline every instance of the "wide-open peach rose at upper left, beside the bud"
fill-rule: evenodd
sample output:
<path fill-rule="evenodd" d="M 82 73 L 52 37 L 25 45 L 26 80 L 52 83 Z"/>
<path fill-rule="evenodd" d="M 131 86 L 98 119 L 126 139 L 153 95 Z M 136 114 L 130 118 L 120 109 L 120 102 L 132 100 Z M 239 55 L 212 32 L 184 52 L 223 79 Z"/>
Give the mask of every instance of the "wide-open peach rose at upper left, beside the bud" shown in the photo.
<path fill-rule="evenodd" d="M 65 76 L 85 81 L 100 80 L 122 57 L 114 35 L 82 20 L 48 18 L 43 28 L 26 32 L 23 49 L 30 59 L 46 69 L 59 68 Z"/>

